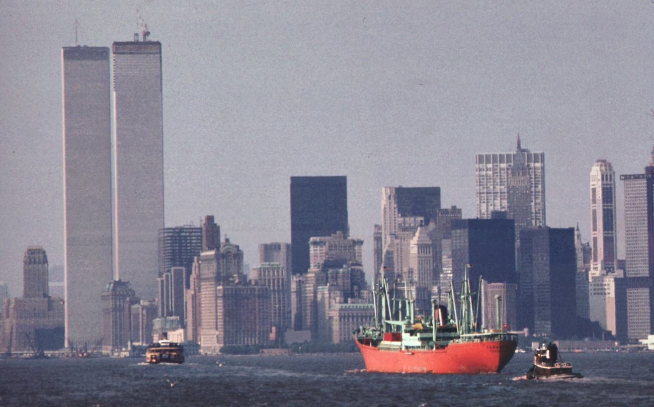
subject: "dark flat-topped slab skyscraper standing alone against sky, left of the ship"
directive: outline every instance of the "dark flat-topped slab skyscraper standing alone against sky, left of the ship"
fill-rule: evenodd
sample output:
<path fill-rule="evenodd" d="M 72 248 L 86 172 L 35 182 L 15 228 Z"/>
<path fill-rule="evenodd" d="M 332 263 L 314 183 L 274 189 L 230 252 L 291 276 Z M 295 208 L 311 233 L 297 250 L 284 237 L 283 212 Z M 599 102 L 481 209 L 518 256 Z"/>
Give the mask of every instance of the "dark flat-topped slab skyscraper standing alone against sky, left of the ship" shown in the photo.
<path fill-rule="evenodd" d="M 309 270 L 309 239 L 348 234 L 347 177 L 290 177 L 292 274 Z"/>

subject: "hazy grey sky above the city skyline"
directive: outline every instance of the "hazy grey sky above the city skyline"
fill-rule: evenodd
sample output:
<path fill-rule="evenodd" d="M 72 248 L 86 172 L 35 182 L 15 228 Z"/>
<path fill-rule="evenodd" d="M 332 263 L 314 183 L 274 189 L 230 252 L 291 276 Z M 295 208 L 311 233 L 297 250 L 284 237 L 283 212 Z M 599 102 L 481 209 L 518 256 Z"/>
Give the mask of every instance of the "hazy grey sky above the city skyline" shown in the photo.
<path fill-rule="evenodd" d="M 61 46 L 163 45 L 165 223 L 213 214 L 256 265 L 290 241 L 289 177 L 347 175 L 370 274 L 382 186 L 475 217 L 475 152 L 544 151 L 547 224 L 588 239 L 589 171 L 649 160 L 654 5 L 642 1 L 0 3 L 0 280 L 63 264 Z M 619 190 L 622 189 L 618 181 Z M 623 202 L 618 195 L 619 229 Z M 623 256 L 624 239 L 619 243 Z"/>

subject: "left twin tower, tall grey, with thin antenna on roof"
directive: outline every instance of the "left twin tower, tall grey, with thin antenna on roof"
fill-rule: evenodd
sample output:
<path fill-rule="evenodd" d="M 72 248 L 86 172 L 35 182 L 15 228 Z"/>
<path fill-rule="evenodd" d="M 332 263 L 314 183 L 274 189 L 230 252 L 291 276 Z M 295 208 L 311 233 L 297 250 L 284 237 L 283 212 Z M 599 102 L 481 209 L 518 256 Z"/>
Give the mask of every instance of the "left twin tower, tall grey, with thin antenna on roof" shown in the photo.
<path fill-rule="evenodd" d="M 65 338 L 102 338 L 100 293 L 112 280 L 109 48 L 64 47 Z"/>

